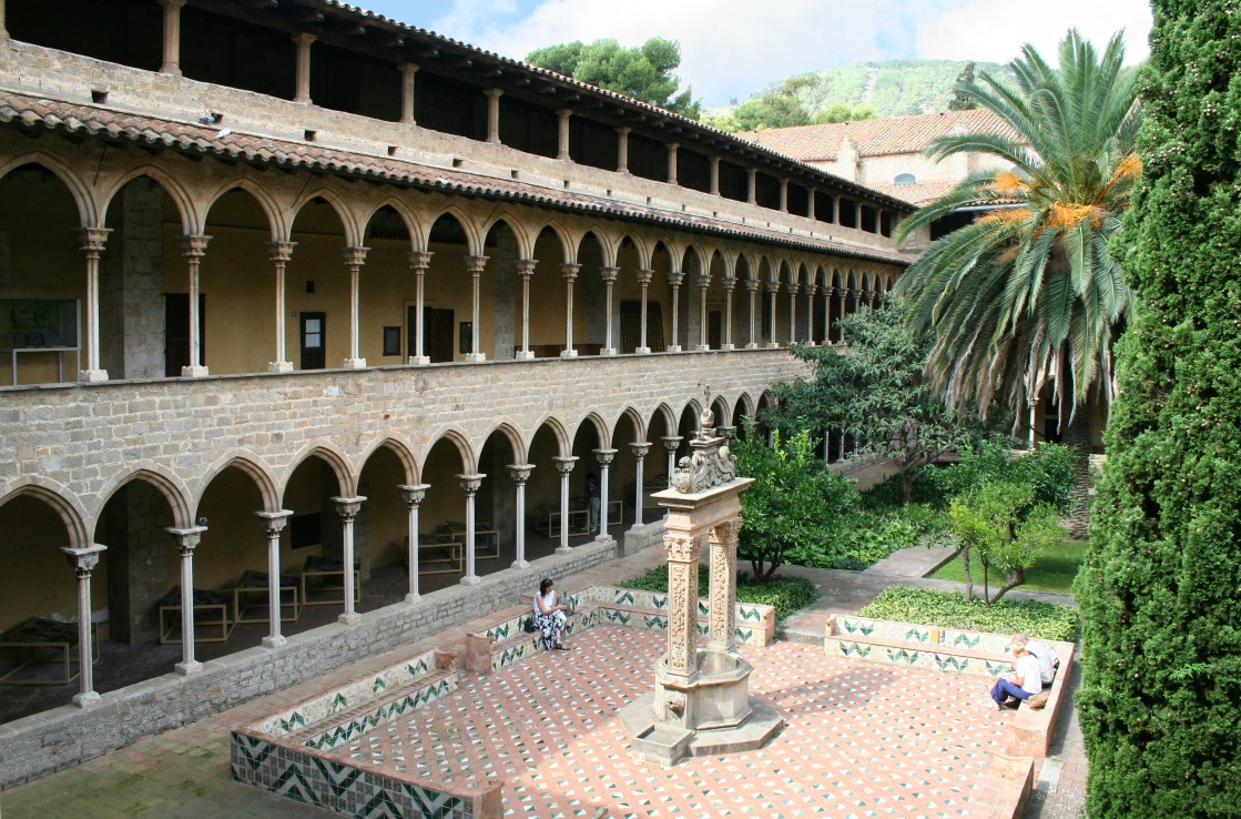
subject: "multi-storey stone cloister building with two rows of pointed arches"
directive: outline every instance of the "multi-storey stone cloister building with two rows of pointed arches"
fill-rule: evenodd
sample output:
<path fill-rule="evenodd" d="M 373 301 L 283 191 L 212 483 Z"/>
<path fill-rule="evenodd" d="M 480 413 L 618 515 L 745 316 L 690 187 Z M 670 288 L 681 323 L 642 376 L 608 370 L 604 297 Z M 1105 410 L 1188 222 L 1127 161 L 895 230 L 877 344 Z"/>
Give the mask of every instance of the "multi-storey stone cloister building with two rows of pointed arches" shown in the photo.
<path fill-rule="evenodd" d="M 840 342 L 911 210 L 334 0 L 0 0 L 0 632 L 149 643 L 179 583 L 352 555 L 365 587 L 464 522 L 450 598 L 414 562 L 319 637 L 273 611 L 249 676 L 186 640 L 163 684 L 201 701 L 133 705 L 169 725 L 480 611 L 587 472 L 640 509 L 704 410 L 737 426 L 789 344 Z M 553 536 L 540 571 L 616 548 Z M 17 778 L 102 747 L 25 722 Z"/>

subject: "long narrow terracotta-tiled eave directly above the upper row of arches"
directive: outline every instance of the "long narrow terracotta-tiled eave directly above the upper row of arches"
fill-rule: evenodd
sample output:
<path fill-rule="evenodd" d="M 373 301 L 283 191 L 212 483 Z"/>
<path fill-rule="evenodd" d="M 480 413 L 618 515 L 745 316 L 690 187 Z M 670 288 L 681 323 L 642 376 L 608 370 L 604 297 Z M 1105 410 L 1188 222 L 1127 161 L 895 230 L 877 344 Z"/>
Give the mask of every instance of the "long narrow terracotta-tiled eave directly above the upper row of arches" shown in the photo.
<path fill-rule="evenodd" d="M 817 253 L 834 253 L 887 264 L 908 264 L 908 259 L 895 251 L 853 242 L 794 236 L 787 231 L 737 225 L 679 210 L 668 211 L 586 192 L 550 189 L 517 180 L 436 168 L 393 156 L 376 156 L 314 143 L 220 130 L 196 123 L 161 119 L 98 105 L 27 97 L 6 91 L 0 91 L 0 124 L 38 128 L 112 141 L 129 141 L 146 146 L 164 146 L 185 154 L 215 155 L 254 165 L 303 168 L 343 176 L 361 176 L 447 195 L 516 201 L 539 207 L 593 213 L 604 218 L 745 238 Z"/>

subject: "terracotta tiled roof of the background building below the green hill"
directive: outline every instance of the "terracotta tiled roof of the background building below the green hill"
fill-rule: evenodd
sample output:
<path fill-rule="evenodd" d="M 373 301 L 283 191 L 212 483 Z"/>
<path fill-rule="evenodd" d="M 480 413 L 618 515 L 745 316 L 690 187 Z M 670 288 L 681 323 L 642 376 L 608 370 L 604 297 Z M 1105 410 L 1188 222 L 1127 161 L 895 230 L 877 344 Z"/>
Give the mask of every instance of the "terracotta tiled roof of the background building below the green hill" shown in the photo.
<path fill-rule="evenodd" d="M 1003 134 L 1016 138 L 1006 123 L 989 110 L 948 110 L 937 114 L 912 114 L 862 119 L 854 123 L 829 123 L 825 125 L 797 125 L 794 128 L 769 128 L 737 134 L 763 148 L 799 159 L 804 163 L 835 161 L 836 150 L 845 136 L 858 143 L 858 156 L 884 156 L 889 154 L 917 154 L 936 136 L 948 134 L 956 125 L 968 133 Z M 891 189 L 884 187 L 887 192 Z M 902 196 L 901 199 L 906 199 Z"/>

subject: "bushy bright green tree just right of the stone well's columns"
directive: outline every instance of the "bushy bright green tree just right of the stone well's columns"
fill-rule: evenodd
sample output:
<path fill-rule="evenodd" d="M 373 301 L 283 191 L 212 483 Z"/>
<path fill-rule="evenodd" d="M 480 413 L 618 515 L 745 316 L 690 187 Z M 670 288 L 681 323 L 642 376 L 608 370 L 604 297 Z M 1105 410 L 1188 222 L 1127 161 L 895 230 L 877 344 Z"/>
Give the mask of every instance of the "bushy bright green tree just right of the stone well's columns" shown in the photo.
<path fill-rule="evenodd" d="M 732 445 L 737 472 L 756 480 L 741 493 L 738 553 L 759 582 L 784 563 L 825 563 L 841 521 L 858 508 L 853 481 L 823 468 L 808 431 L 787 441 L 776 432 L 771 445 L 748 424 L 741 433 Z"/>

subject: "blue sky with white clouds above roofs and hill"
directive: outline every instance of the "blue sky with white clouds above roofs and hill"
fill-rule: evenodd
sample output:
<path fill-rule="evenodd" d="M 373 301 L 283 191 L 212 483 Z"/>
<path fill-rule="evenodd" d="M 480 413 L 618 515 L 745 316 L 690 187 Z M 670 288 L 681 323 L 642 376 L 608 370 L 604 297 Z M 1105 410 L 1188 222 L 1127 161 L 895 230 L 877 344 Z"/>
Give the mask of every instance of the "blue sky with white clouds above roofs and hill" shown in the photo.
<path fill-rule="evenodd" d="M 1008 62 L 1033 43 L 1049 62 L 1076 27 L 1100 48 L 1124 30 L 1148 53 L 1148 0 L 350 0 L 405 24 L 522 60 L 535 48 L 614 37 L 681 43 L 681 87 L 707 107 L 792 74 L 880 60 Z"/>

